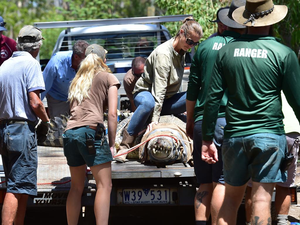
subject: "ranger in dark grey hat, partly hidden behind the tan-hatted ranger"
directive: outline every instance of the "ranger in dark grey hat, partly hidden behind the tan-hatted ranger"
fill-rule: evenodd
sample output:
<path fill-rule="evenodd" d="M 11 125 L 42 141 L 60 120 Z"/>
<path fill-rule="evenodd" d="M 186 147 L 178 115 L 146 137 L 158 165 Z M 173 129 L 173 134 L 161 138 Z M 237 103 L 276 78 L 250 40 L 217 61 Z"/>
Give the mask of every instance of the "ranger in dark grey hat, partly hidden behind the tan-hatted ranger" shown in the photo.
<path fill-rule="evenodd" d="M 240 37 L 246 30 L 245 26 L 238 24 L 232 19 L 232 12 L 245 3 L 246 0 L 233 0 L 229 8 L 219 11 L 218 18 L 228 27 L 227 31 L 224 31 L 221 35 L 202 41 L 193 57 L 190 67 L 186 100 L 186 131 L 191 138 L 195 137 L 193 139 L 194 170 L 197 183 L 200 184 L 195 197 L 196 224 L 206 224 L 210 212 L 212 221 L 215 221 L 220 209 L 220 203 L 224 196 L 225 188 L 222 161 L 220 160 L 216 164 L 208 164 L 201 160 L 202 115 L 208 84 L 211 78 L 211 71 L 219 50 L 225 44 Z M 217 146 L 218 155 L 221 155 L 223 128 L 226 125 L 224 118 L 226 104 L 227 96 L 224 95 L 221 101 L 216 133 L 214 135 L 214 143 Z M 207 173 L 203 173 L 203 171 Z M 208 193 L 208 195 L 204 196 L 205 193 Z M 213 200 L 212 196 L 214 196 Z M 214 210 L 210 211 L 210 208 L 214 208 Z"/>

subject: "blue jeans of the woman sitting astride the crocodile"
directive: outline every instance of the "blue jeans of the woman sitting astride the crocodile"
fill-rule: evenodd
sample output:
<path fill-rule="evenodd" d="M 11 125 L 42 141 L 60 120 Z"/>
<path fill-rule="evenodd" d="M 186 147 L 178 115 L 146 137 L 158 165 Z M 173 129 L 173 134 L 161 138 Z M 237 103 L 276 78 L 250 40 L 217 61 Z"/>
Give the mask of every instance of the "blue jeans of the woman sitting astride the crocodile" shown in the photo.
<path fill-rule="evenodd" d="M 161 116 L 180 114 L 186 111 L 186 92 L 176 93 L 171 98 L 165 98 L 161 109 Z M 151 92 L 141 91 L 134 94 L 134 104 L 137 107 L 129 122 L 128 134 L 138 134 L 145 126 L 147 119 L 154 110 L 155 100 Z"/>

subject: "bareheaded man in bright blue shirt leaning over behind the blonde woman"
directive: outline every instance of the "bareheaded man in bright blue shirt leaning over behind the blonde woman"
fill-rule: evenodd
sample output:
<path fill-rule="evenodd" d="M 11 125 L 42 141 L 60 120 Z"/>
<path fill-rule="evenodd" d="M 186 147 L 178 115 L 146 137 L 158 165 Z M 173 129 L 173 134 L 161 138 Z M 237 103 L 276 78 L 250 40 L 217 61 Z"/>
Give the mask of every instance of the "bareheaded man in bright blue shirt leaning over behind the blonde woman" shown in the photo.
<path fill-rule="evenodd" d="M 70 104 L 67 102 L 70 81 L 74 78 L 88 42 L 78 40 L 73 45 L 73 51 L 56 52 L 43 71 L 49 115 L 51 119 L 67 112 L 70 114 Z"/>

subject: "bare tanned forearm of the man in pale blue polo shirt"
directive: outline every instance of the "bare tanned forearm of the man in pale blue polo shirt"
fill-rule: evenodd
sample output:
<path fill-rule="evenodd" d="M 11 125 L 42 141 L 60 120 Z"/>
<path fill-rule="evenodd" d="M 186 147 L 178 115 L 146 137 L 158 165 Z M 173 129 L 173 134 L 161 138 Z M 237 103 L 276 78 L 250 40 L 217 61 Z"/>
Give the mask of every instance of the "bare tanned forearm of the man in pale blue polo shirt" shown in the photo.
<path fill-rule="evenodd" d="M 49 122 L 44 104 L 40 99 L 40 90 L 30 91 L 29 92 L 29 101 L 32 110 L 35 114 L 43 121 Z"/>

